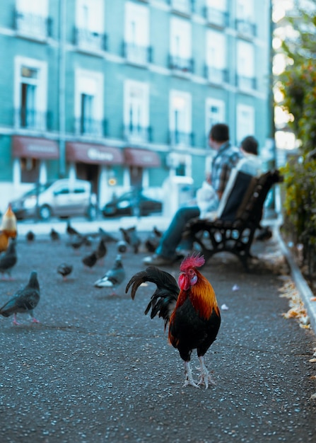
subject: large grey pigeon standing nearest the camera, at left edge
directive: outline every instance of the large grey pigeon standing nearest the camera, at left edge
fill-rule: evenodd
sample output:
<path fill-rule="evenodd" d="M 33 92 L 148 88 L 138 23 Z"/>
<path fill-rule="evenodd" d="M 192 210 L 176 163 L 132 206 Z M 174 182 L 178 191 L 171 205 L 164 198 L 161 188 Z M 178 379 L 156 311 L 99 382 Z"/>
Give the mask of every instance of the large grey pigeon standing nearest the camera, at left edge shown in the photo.
<path fill-rule="evenodd" d="M 0 308 L 0 314 L 4 317 L 9 317 L 13 314 L 14 325 L 19 324 L 16 320 L 17 313 L 28 313 L 33 323 L 40 323 L 33 314 L 33 309 L 36 308 L 39 301 L 40 284 L 37 280 L 37 272 L 32 271 L 28 284 L 23 289 L 19 289 L 16 294 Z"/>

